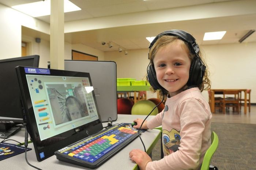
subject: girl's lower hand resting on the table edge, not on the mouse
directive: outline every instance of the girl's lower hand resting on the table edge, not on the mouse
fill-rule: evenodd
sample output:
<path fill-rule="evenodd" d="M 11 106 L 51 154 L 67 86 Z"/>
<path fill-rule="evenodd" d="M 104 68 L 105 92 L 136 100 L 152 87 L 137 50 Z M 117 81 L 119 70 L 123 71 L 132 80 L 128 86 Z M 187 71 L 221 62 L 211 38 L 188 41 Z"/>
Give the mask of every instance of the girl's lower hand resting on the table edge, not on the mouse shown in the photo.
<path fill-rule="evenodd" d="M 146 152 L 139 149 L 133 149 L 129 153 L 129 157 L 138 164 L 140 170 L 146 170 L 147 163 L 152 161 Z"/>

